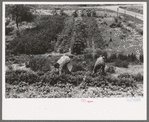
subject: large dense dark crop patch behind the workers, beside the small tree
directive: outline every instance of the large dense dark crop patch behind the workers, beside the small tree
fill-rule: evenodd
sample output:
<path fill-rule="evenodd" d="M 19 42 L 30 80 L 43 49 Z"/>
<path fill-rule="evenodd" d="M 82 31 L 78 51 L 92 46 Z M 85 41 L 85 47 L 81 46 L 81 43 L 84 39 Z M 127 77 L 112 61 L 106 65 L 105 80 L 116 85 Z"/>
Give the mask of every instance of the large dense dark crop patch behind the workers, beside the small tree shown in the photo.
<path fill-rule="evenodd" d="M 14 54 L 43 54 L 54 50 L 52 41 L 64 28 L 64 16 L 41 17 L 35 28 L 22 32 L 10 42 L 9 48 Z"/>

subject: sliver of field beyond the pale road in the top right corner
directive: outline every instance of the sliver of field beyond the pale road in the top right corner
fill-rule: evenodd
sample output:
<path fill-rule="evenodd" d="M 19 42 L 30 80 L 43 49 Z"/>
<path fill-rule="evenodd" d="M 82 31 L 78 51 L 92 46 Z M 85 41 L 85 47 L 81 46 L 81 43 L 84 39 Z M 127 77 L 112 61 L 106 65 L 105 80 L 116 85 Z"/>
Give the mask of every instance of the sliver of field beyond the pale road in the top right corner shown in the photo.
<path fill-rule="evenodd" d="M 128 11 L 136 12 L 139 14 L 143 14 L 143 6 L 120 6 L 122 9 L 126 9 Z"/>

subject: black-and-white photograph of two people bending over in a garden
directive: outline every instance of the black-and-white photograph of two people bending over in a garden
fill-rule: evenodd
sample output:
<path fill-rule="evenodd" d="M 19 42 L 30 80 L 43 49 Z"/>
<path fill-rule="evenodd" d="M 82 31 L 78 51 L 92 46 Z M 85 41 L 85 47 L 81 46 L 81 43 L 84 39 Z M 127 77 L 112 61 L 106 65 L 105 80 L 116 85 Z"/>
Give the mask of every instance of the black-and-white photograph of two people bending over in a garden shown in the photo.
<path fill-rule="evenodd" d="M 4 99 L 146 97 L 145 5 L 3 4 Z"/>

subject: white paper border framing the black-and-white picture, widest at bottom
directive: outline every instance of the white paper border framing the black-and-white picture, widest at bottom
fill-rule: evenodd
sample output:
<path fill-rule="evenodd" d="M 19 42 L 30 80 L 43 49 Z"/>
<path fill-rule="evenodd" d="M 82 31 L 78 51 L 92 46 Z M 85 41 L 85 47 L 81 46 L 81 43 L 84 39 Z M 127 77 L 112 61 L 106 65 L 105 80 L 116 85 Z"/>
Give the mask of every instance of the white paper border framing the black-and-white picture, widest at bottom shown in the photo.
<path fill-rule="evenodd" d="M 6 4 L 143 4 L 144 84 L 139 102 L 128 98 L 5 98 Z M 2 119 L 3 120 L 146 120 L 147 119 L 147 3 L 146 2 L 3 2 L 2 13 Z M 135 98 L 136 99 L 136 98 Z"/>

